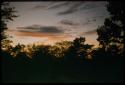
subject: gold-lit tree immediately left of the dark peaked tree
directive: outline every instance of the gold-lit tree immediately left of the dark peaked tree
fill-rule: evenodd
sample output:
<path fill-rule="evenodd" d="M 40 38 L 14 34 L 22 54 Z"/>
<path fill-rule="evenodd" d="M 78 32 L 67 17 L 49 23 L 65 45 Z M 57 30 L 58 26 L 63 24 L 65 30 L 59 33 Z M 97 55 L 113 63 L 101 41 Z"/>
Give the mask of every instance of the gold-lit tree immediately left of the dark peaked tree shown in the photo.
<path fill-rule="evenodd" d="M 65 53 L 71 45 L 71 41 L 62 41 L 55 43 L 54 46 L 51 46 L 49 48 L 49 54 L 53 57 L 53 61 L 55 63 L 62 63 Z"/>

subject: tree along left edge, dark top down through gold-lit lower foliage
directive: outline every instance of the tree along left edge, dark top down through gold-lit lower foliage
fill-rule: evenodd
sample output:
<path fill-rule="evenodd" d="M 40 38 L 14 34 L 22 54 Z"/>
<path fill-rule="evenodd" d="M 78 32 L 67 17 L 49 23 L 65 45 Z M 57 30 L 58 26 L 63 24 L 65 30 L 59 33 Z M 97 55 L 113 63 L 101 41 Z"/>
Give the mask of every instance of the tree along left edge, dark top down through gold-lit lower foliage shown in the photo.
<path fill-rule="evenodd" d="M 0 30 L 1 30 L 1 46 L 2 52 L 6 52 L 6 54 L 10 55 L 12 52 L 12 41 L 8 40 L 8 35 L 5 35 L 5 30 L 7 29 L 7 22 L 13 21 L 17 15 L 15 15 L 15 8 L 11 7 L 8 2 L 1 3 L 1 20 L 0 20 Z M 2 55 L 2 57 L 5 57 Z M 11 56 L 12 57 L 12 56 Z"/>

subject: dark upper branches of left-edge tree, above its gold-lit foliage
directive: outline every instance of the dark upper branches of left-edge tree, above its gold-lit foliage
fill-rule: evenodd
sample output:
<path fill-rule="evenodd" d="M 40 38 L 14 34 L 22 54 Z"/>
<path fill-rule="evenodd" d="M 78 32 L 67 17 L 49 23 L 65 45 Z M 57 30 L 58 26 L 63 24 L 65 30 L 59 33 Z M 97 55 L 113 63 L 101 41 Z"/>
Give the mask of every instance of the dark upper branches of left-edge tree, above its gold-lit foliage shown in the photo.
<path fill-rule="evenodd" d="M 7 22 L 9 21 L 13 21 L 13 19 L 15 17 L 17 17 L 17 15 L 15 15 L 15 8 L 11 7 L 10 4 L 8 2 L 2 2 L 1 3 L 1 35 L 2 35 L 2 39 L 6 38 L 5 34 L 4 34 L 4 30 L 7 29 Z"/>

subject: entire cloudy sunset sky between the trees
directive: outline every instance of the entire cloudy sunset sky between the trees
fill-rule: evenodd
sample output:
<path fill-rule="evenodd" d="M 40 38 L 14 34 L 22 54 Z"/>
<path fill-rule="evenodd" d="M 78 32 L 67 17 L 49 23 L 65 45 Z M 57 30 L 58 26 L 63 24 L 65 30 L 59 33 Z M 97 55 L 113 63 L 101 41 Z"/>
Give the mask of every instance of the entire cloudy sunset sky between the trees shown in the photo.
<path fill-rule="evenodd" d="M 85 37 L 98 45 L 96 29 L 109 16 L 106 1 L 10 2 L 17 18 L 8 22 L 6 33 L 14 44 L 54 44 Z"/>

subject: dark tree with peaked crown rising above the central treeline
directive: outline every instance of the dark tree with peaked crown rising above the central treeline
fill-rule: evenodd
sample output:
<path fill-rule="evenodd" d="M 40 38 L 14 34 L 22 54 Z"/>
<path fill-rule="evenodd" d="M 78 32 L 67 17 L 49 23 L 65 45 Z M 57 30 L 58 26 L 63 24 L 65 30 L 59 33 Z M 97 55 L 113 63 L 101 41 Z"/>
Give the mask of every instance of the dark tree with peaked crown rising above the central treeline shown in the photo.
<path fill-rule="evenodd" d="M 73 41 L 73 45 L 69 47 L 65 55 L 65 60 L 68 62 L 80 62 L 86 59 L 88 50 L 93 47 L 93 45 L 84 44 L 85 38 L 76 38 Z"/>

